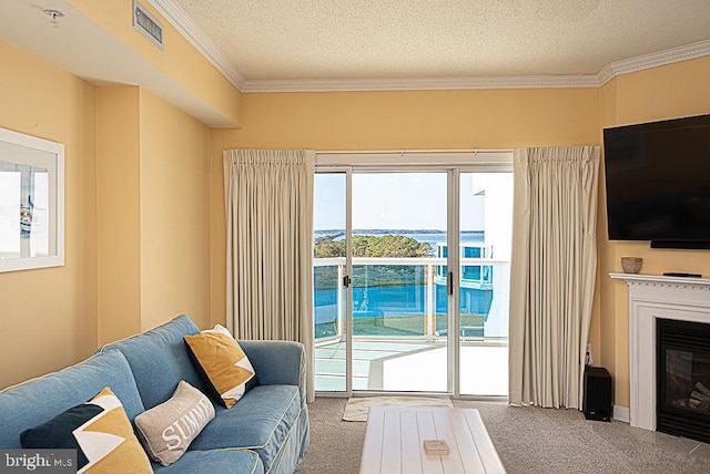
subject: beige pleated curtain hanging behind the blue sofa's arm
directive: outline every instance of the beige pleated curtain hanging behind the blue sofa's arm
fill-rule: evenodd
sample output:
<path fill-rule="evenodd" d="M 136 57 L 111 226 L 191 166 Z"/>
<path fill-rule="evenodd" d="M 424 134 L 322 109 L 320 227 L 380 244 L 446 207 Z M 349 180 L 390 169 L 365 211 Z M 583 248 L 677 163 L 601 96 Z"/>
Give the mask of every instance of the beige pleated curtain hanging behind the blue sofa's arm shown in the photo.
<path fill-rule="evenodd" d="M 227 150 L 226 322 L 242 339 L 306 346 L 313 378 L 313 151 Z"/>

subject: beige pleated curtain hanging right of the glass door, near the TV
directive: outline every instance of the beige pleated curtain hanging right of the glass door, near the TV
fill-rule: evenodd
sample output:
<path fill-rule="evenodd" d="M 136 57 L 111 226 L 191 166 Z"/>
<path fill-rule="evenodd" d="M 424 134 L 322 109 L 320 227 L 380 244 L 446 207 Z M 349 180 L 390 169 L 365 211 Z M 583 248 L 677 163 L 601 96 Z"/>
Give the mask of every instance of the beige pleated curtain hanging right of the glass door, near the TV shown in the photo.
<path fill-rule="evenodd" d="M 509 403 L 581 409 L 599 147 L 514 151 Z"/>

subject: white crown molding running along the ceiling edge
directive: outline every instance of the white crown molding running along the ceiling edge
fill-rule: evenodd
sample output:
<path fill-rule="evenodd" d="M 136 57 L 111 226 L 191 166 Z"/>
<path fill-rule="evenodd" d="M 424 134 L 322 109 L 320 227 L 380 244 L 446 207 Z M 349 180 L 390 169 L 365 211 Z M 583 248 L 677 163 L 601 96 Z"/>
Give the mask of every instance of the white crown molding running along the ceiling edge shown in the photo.
<path fill-rule="evenodd" d="M 600 87 L 618 75 L 710 55 L 710 40 L 704 40 L 637 58 L 615 61 L 601 68 L 596 74 L 361 80 L 245 80 L 232 61 L 207 38 L 205 32 L 197 27 L 175 0 L 146 1 L 158 9 L 237 90 L 245 93 Z"/>

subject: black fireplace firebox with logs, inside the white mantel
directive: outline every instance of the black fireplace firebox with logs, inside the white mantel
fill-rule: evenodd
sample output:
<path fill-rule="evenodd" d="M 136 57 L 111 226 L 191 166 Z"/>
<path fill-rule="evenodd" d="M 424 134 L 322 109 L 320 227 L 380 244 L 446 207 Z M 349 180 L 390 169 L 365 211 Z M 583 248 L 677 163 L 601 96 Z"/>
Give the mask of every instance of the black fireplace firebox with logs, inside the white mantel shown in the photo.
<path fill-rule="evenodd" d="M 656 430 L 710 443 L 710 324 L 656 320 Z"/>

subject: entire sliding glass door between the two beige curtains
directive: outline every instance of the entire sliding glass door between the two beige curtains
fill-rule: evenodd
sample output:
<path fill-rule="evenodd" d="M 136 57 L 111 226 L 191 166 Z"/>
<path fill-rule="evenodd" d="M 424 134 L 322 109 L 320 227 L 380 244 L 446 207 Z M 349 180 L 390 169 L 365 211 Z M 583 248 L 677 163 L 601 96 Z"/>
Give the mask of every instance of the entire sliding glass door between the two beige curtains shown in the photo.
<path fill-rule="evenodd" d="M 511 184 L 443 166 L 316 173 L 316 391 L 507 394 L 500 176 Z"/>

